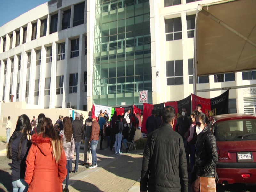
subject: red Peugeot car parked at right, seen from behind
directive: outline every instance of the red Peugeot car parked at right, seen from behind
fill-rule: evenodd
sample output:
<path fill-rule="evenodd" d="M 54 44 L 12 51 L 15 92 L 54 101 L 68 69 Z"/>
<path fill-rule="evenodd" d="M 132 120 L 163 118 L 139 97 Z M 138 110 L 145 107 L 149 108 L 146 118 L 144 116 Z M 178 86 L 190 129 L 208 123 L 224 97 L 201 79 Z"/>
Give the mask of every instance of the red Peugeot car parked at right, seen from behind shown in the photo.
<path fill-rule="evenodd" d="M 256 117 L 225 114 L 210 119 L 216 137 L 218 184 L 256 183 Z"/>

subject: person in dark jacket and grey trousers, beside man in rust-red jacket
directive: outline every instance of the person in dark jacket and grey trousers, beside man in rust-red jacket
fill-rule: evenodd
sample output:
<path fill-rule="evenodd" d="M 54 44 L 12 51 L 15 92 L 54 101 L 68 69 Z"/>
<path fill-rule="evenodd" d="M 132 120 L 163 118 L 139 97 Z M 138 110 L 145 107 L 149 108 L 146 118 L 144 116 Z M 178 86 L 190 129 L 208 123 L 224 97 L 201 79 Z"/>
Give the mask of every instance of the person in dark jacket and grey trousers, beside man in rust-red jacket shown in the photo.
<path fill-rule="evenodd" d="M 91 111 L 89 111 L 88 116 L 89 117 L 88 117 L 88 119 L 85 120 L 85 125 L 84 125 L 84 131 L 85 131 L 85 135 L 84 135 L 84 166 L 92 165 L 92 152 L 91 152 L 91 146 L 89 144 L 89 139 L 90 139 L 91 130 L 92 130 L 92 112 Z M 88 148 L 89 148 L 90 154 L 89 154 L 89 162 L 87 163 Z"/>

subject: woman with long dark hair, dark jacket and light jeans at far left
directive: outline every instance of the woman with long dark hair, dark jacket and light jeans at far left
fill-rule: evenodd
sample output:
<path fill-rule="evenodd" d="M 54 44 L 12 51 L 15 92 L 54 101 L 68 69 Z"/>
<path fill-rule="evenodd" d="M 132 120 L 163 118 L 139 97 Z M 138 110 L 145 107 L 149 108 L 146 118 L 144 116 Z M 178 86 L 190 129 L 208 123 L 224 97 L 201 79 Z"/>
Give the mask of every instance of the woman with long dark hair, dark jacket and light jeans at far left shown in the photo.
<path fill-rule="evenodd" d="M 26 169 L 26 157 L 30 148 L 30 120 L 25 114 L 17 121 L 8 146 L 7 158 L 12 159 L 12 187 L 13 192 L 26 192 L 28 184 L 24 181 Z"/>

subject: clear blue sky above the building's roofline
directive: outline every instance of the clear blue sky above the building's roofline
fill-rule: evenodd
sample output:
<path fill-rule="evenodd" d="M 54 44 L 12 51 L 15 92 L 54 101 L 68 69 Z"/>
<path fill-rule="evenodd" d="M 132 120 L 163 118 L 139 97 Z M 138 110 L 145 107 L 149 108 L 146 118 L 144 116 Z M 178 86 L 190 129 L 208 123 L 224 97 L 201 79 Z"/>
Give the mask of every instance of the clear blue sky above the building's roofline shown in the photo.
<path fill-rule="evenodd" d="M 49 0 L 0 0 L 0 26 Z"/>

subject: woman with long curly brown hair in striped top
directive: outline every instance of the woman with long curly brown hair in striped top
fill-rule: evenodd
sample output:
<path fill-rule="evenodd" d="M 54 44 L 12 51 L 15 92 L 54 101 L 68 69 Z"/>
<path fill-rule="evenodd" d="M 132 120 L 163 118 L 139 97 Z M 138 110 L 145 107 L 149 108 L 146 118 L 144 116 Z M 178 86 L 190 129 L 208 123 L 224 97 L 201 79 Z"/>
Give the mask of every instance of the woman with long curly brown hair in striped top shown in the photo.
<path fill-rule="evenodd" d="M 66 186 L 63 191 L 68 192 L 68 181 L 69 181 L 69 165 L 72 166 L 72 159 L 74 158 L 75 152 L 75 140 L 73 138 L 73 130 L 72 124 L 69 117 L 64 117 L 63 119 L 63 130 L 60 131 L 60 135 L 63 139 L 63 148 L 66 155 L 66 169 L 67 169 L 67 176 L 66 176 Z M 71 167 L 70 166 L 70 167 Z M 70 168 L 71 171 L 71 168 Z"/>

